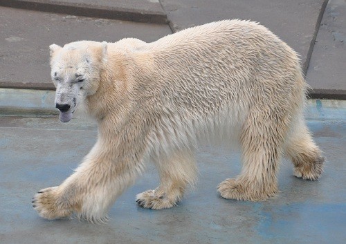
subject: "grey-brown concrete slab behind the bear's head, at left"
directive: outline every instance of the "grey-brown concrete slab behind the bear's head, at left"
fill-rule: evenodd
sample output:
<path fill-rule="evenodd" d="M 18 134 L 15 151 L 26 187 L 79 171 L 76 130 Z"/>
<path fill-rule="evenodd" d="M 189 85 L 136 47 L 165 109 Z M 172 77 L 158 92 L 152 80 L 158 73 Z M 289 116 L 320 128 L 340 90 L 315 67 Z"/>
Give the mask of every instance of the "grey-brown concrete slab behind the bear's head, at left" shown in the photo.
<path fill-rule="evenodd" d="M 49 49 L 71 41 L 154 41 L 171 34 L 167 25 L 18 10 L 0 7 L 0 86 L 53 88 Z"/>

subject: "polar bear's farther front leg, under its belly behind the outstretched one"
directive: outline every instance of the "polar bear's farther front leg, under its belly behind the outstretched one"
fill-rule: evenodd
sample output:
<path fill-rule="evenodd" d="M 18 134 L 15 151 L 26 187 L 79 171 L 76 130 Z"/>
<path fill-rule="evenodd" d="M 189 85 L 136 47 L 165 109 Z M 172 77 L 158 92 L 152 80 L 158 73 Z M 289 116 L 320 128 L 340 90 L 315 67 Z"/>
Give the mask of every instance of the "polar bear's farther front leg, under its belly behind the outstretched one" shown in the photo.
<path fill-rule="evenodd" d="M 179 151 L 165 160 L 157 160 L 160 185 L 154 190 L 144 191 L 136 196 L 141 207 L 165 209 L 174 207 L 185 192 L 187 185 L 193 185 L 197 174 L 194 151 Z"/>

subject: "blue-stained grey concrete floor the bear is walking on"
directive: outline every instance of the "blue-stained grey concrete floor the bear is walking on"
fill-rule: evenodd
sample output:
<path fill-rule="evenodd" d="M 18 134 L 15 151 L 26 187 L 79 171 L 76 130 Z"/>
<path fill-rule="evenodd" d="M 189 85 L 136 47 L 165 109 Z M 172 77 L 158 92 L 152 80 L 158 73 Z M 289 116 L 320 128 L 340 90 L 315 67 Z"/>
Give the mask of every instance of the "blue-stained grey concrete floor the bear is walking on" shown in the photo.
<path fill-rule="evenodd" d="M 62 124 L 51 115 L 24 115 L 0 113 L 0 243 L 345 243 L 346 101 L 309 100 L 308 125 L 327 157 L 320 180 L 293 177 L 291 162 L 284 161 L 279 196 L 260 203 L 225 200 L 216 187 L 239 173 L 239 156 L 203 147 L 197 187 L 179 206 L 137 207 L 136 194 L 158 184 L 149 165 L 113 205 L 107 225 L 37 216 L 33 195 L 72 173 L 96 131 L 78 119 Z"/>

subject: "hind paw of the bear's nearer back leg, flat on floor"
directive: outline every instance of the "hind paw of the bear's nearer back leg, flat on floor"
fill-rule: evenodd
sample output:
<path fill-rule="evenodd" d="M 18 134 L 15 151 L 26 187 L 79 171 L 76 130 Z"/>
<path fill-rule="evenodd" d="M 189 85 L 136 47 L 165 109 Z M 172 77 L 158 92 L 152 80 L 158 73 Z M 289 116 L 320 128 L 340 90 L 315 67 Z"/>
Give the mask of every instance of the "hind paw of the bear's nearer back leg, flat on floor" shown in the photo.
<path fill-rule="evenodd" d="M 266 191 L 264 191 L 266 189 Z M 219 184 L 217 191 L 221 197 L 226 199 L 235 199 L 235 200 L 266 200 L 271 196 L 277 194 L 277 187 L 261 187 L 260 185 L 256 186 L 256 183 L 250 186 L 245 182 L 239 180 L 227 179 Z"/>

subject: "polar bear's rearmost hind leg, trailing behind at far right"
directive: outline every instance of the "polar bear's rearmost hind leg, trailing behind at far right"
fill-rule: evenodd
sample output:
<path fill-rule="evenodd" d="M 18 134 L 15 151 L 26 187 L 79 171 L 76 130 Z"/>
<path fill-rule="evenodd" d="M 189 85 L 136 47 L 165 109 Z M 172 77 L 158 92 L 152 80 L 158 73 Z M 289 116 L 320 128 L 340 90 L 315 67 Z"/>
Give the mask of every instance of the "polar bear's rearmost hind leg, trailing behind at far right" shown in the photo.
<path fill-rule="evenodd" d="M 294 176 L 304 180 L 317 180 L 320 177 L 325 158 L 313 142 L 304 120 L 298 120 L 293 127 L 284 153 L 293 162 Z"/>

